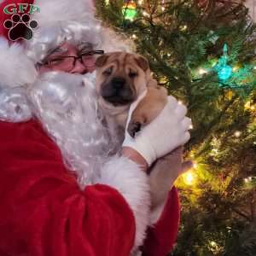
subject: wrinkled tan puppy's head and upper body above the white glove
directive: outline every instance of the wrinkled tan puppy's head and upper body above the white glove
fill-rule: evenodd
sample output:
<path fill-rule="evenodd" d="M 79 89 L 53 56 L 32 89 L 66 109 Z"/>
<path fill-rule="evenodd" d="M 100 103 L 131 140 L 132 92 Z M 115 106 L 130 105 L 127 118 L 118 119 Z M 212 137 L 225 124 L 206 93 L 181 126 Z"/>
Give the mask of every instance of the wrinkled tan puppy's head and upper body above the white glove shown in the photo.
<path fill-rule="evenodd" d="M 150 123 L 167 102 L 167 90 L 150 74 L 148 60 L 125 52 L 105 54 L 96 60 L 96 91 L 106 117 L 111 137 L 122 143 L 132 102 L 148 89 L 131 115 L 128 132 L 135 137 L 143 125 Z"/>

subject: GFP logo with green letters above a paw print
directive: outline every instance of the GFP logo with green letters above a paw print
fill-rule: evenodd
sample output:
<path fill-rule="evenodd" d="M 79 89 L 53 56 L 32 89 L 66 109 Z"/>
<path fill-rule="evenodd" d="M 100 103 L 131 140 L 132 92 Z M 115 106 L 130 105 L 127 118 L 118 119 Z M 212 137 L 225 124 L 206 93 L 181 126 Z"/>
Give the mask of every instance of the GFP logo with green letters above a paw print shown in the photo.
<path fill-rule="evenodd" d="M 40 9 L 37 5 L 28 3 L 10 3 L 6 5 L 3 13 L 11 15 L 11 17 L 3 22 L 3 26 L 9 29 L 9 39 L 11 41 L 32 39 L 33 30 L 38 27 L 38 21 L 31 20 L 30 15 L 39 11 Z"/>

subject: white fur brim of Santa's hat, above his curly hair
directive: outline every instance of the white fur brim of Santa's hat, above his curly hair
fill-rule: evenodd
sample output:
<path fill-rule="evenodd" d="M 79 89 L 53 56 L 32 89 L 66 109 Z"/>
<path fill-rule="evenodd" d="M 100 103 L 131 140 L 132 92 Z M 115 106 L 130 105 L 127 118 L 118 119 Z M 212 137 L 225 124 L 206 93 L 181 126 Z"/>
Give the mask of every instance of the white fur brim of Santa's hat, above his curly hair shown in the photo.
<path fill-rule="evenodd" d="M 38 21 L 39 26 L 60 21 L 78 20 L 86 23 L 89 14 L 94 16 L 95 8 L 92 0 L 35 0 L 40 12 L 33 15 L 33 19 Z"/>

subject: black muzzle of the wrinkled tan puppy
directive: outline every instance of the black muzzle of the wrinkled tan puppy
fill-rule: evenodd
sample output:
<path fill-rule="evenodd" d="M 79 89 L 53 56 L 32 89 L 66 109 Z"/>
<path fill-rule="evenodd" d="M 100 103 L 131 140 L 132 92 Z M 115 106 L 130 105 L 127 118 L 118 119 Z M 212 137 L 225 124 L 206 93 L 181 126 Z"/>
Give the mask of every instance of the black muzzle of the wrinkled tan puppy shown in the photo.
<path fill-rule="evenodd" d="M 115 77 L 102 85 L 102 97 L 113 105 L 125 105 L 134 101 L 131 86 L 124 78 Z"/>

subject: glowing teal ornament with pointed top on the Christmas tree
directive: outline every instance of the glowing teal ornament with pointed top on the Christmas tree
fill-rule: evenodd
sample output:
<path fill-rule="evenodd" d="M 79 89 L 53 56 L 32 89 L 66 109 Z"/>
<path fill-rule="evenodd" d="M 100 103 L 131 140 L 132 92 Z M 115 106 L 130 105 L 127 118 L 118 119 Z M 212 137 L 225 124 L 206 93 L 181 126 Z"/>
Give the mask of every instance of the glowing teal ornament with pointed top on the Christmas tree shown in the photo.
<path fill-rule="evenodd" d="M 214 67 L 214 70 L 218 73 L 218 79 L 225 81 L 230 79 L 233 70 L 230 65 L 228 65 L 229 55 L 228 55 L 228 45 L 224 44 L 223 55 L 218 60 L 218 64 Z"/>

